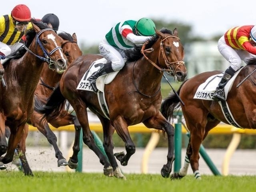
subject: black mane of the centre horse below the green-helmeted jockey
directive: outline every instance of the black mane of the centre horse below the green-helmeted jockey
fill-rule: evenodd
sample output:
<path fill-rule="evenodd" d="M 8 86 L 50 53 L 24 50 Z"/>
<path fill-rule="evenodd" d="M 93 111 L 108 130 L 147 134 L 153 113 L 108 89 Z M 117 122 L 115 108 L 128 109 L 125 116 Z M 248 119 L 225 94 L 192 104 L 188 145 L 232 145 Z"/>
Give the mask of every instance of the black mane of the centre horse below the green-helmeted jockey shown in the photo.
<path fill-rule="evenodd" d="M 160 32 L 172 35 L 172 31 L 167 28 L 162 28 Z M 156 42 L 157 39 L 158 39 L 157 35 L 152 36 L 152 38 L 148 41 L 148 44 L 146 45 L 145 49 L 151 47 L 154 44 L 154 42 Z M 142 53 L 140 52 L 141 49 L 142 49 L 142 46 L 135 45 L 134 48 L 125 50 L 124 52 L 125 52 L 127 61 L 132 62 L 140 59 L 143 56 Z"/>

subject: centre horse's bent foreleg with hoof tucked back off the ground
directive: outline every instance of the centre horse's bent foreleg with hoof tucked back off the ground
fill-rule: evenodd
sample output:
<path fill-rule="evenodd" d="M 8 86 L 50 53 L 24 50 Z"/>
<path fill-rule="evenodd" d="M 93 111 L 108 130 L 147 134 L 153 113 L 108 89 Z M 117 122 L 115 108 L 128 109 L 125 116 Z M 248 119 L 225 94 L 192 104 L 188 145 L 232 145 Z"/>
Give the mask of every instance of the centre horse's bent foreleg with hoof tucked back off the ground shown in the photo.
<path fill-rule="evenodd" d="M 128 160 L 135 153 L 135 144 L 130 137 L 130 133 L 128 130 L 127 123 L 122 117 L 118 117 L 113 121 L 114 128 L 116 133 L 122 138 L 125 144 L 126 154 L 123 152 L 114 154 L 116 158 L 120 161 L 122 166 L 126 166 L 128 164 Z"/>

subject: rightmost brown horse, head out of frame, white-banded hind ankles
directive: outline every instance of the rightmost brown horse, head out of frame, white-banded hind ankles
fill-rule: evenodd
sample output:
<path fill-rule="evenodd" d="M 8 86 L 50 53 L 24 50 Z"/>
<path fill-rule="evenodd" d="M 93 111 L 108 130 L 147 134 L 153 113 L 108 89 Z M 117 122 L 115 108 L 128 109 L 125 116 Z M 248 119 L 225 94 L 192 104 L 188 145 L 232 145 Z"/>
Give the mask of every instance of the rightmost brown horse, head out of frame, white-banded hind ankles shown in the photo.
<path fill-rule="evenodd" d="M 180 104 L 176 94 L 171 94 L 163 101 L 161 111 L 166 118 L 173 118 L 175 109 L 181 106 L 186 126 L 190 131 L 184 167 L 178 173 L 172 174 L 172 178 L 186 176 L 190 163 L 195 178 L 201 179 L 198 169 L 200 145 L 208 132 L 220 122 L 226 124 L 236 122 L 237 127 L 256 129 L 256 74 L 251 74 L 247 80 L 240 84 L 255 69 L 255 66 L 256 59 L 248 61 L 247 65 L 237 75 L 226 97 L 230 116 L 233 117 L 234 121 L 228 120 L 228 122 L 222 112 L 220 104 L 224 105 L 225 102 L 194 99 L 200 84 L 204 83 L 209 77 L 222 73 L 221 71 L 204 72 L 186 80 L 177 91 L 185 105 Z"/>

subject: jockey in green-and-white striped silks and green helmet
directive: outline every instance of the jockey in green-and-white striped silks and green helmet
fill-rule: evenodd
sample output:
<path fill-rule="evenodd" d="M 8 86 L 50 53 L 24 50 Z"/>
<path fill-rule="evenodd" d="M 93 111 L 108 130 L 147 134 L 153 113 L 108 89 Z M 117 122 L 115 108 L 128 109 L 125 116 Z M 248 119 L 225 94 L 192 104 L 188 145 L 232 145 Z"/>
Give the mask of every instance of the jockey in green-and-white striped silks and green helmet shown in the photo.
<path fill-rule="evenodd" d="M 154 22 L 149 18 L 141 18 L 138 21 L 126 20 L 111 28 L 99 44 L 100 54 L 108 63 L 88 78 L 95 93 L 98 92 L 97 78 L 121 70 L 124 67 L 124 50 L 147 42 L 156 33 L 155 28 Z"/>

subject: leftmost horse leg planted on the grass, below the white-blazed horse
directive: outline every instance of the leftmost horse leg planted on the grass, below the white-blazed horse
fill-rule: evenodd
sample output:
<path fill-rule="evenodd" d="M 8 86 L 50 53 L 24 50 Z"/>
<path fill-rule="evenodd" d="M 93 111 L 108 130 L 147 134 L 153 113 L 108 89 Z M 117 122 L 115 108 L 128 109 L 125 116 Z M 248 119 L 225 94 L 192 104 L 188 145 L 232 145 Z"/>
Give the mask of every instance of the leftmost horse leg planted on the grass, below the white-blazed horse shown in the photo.
<path fill-rule="evenodd" d="M 16 158 L 20 158 L 21 161 L 21 165 L 17 165 L 17 166 L 22 166 L 19 169 L 23 169 L 24 170 L 24 174 L 28 175 L 28 176 L 34 176 L 32 173 L 32 170 L 30 169 L 30 166 L 28 164 L 28 160 L 26 158 L 26 138 L 28 136 L 28 124 L 26 124 L 24 126 L 24 133 L 22 135 L 22 138 L 20 139 L 20 142 L 17 146 L 17 156 Z M 13 160 L 13 162 L 15 161 L 15 159 Z"/>

